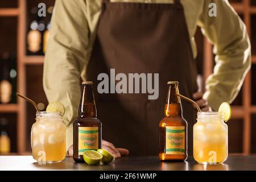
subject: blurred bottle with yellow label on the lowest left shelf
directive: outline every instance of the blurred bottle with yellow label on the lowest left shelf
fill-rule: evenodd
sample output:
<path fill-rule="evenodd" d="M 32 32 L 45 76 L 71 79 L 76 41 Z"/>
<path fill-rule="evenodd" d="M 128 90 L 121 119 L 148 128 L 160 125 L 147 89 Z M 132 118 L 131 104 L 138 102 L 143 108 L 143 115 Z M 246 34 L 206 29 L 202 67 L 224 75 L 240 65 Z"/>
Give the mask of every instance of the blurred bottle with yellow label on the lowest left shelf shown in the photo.
<path fill-rule="evenodd" d="M 8 120 L 0 118 L 0 154 L 9 154 L 11 151 L 11 140 L 7 133 Z"/>

